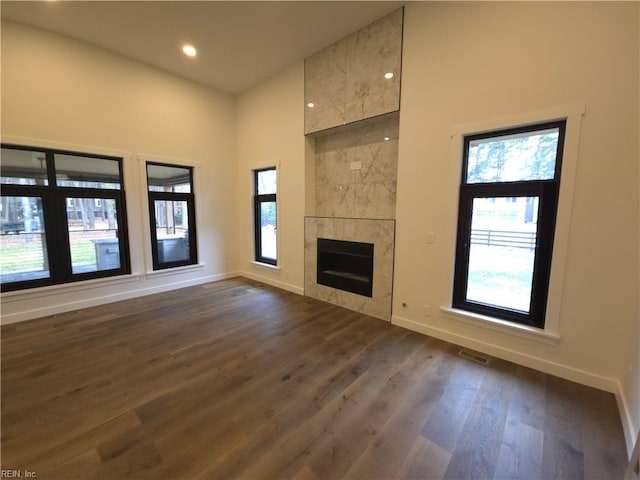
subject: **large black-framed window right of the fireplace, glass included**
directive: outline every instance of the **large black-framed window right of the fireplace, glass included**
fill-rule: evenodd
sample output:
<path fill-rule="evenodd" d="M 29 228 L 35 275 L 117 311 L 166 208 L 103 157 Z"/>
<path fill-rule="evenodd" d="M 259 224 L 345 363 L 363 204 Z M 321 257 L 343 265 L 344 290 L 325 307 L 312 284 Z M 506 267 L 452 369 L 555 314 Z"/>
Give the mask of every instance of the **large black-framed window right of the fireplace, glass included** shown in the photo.
<path fill-rule="evenodd" d="M 565 125 L 464 137 L 454 308 L 544 328 Z"/>

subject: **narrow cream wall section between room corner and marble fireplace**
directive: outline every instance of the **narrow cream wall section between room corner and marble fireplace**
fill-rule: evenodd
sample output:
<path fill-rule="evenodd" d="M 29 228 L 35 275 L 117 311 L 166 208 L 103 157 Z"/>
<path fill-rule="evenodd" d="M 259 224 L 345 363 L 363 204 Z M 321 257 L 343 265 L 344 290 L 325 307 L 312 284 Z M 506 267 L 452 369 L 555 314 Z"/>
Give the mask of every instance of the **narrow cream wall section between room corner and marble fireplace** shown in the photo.
<path fill-rule="evenodd" d="M 238 268 L 250 278 L 299 294 L 304 289 L 303 63 L 238 98 L 236 241 Z M 253 170 L 277 167 L 278 267 L 256 265 L 253 230 Z"/>

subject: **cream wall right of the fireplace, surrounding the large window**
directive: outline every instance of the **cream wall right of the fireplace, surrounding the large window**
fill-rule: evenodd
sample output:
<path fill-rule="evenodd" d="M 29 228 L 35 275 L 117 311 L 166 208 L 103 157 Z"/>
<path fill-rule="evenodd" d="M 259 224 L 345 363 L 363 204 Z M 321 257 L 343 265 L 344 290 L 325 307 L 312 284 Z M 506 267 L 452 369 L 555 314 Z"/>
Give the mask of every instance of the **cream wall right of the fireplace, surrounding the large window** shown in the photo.
<path fill-rule="evenodd" d="M 397 324 L 610 391 L 622 381 L 627 438 L 640 427 L 638 380 L 627 373 L 638 362 L 638 6 L 406 7 L 394 284 Z M 470 325 L 437 308 L 425 317 L 425 304 L 450 306 L 460 169 L 452 131 L 578 104 L 586 114 L 568 253 L 554 259 L 566 261 L 564 288 L 553 292 L 559 342 Z"/>

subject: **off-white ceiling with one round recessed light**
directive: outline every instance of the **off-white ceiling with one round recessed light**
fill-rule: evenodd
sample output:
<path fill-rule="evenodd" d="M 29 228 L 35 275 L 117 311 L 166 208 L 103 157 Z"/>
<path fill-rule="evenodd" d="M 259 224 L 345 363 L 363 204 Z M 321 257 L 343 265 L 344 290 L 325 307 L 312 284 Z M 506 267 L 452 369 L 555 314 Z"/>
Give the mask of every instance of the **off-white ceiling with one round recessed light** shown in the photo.
<path fill-rule="evenodd" d="M 2 1 L 3 19 L 103 47 L 237 94 L 401 1 Z M 190 42 L 197 57 L 183 55 Z"/>

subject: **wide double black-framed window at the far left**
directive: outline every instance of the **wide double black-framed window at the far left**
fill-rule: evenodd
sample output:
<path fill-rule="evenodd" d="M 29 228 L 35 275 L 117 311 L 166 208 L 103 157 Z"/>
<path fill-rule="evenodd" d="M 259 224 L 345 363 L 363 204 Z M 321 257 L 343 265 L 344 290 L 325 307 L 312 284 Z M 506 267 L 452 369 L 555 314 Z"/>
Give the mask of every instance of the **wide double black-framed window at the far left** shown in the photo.
<path fill-rule="evenodd" d="M 2 145 L 2 291 L 130 273 L 122 159 Z"/>

